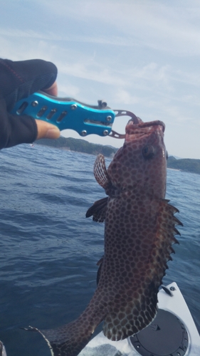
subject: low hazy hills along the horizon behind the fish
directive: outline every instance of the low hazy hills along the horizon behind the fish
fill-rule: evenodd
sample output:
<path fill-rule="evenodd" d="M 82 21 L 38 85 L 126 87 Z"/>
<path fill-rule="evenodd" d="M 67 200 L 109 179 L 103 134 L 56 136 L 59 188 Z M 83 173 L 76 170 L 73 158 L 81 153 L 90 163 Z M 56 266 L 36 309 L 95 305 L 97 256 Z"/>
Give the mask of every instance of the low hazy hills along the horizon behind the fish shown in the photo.
<path fill-rule="evenodd" d="M 90 143 L 85 140 L 62 136 L 57 140 L 42 139 L 37 140 L 35 143 L 38 145 L 60 148 L 62 150 L 88 153 L 89 155 L 98 155 L 99 153 L 102 153 L 105 157 L 113 157 L 118 150 L 112 146 L 96 145 L 95 143 Z M 184 172 L 200 174 L 200 159 L 176 159 L 173 156 L 169 156 L 167 159 L 167 167 L 180 169 Z"/>

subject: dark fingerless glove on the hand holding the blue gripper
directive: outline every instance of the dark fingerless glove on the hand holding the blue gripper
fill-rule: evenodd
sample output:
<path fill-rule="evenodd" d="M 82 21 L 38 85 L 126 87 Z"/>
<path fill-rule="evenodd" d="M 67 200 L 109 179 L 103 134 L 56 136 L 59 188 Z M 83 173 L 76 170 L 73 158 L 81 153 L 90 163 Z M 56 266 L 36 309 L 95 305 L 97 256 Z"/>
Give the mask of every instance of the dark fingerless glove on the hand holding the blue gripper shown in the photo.
<path fill-rule="evenodd" d="M 0 149 L 36 140 L 38 132 L 33 117 L 9 112 L 20 99 L 50 88 L 56 76 L 57 68 L 51 62 L 0 59 Z"/>

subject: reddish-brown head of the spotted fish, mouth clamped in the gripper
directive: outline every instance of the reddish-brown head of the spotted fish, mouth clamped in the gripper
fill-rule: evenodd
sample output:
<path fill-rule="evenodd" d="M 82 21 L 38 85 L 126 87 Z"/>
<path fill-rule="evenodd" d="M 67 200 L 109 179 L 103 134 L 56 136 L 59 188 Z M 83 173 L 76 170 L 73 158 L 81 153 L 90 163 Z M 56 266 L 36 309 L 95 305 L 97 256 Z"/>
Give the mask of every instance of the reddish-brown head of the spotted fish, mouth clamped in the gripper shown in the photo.
<path fill-rule="evenodd" d="M 121 190 L 164 198 L 166 192 L 167 151 L 164 146 L 164 122 L 127 122 L 125 143 L 107 169 L 112 184 Z"/>

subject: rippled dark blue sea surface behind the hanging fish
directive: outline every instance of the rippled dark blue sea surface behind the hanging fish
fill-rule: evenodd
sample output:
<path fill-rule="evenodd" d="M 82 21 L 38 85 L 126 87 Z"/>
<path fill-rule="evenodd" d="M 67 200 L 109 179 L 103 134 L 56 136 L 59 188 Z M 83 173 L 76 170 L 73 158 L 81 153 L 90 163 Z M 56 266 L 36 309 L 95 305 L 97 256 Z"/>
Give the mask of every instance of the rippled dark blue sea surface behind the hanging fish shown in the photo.
<path fill-rule="evenodd" d="M 105 192 L 94 161 L 39 145 L 0 151 L 0 340 L 8 356 L 50 356 L 43 337 L 22 328 L 74 320 L 95 291 L 104 225 L 85 212 Z M 177 282 L 200 331 L 200 175 L 168 169 L 167 199 L 184 227 L 163 282 Z"/>

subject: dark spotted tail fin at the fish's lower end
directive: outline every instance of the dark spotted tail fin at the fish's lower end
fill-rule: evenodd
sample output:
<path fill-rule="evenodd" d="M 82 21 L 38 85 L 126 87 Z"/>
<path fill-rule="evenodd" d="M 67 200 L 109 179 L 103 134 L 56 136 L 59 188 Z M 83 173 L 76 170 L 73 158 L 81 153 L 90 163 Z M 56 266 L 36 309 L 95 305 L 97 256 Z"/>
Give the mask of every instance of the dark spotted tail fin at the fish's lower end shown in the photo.
<path fill-rule="evenodd" d="M 93 334 L 93 330 L 87 328 L 79 318 L 60 328 L 48 330 L 32 328 L 32 330 L 41 333 L 50 347 L 52 356 L 77 356 Z"/>

